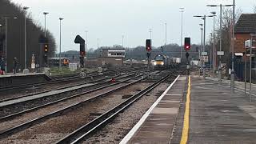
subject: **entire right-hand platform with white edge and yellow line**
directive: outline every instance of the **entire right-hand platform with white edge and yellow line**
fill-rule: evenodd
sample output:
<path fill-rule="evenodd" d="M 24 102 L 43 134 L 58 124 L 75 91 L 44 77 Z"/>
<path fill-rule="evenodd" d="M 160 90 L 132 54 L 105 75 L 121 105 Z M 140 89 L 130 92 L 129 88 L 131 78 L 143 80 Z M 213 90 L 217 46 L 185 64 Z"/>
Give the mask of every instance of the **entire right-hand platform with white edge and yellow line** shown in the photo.
<path fill-rule="evenodd" d="M 192 75 L 180 77 L 148 110 L 121 143 L 256 143 L 256 97 L 242 83 Z"/>

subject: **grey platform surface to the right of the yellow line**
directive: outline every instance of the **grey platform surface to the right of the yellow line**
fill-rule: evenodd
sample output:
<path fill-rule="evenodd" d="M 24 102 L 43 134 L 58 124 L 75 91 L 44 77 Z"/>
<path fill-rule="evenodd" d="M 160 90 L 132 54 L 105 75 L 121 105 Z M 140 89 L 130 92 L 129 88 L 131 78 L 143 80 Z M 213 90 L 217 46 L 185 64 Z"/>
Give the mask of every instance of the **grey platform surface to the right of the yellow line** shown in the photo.
<path fill-rule="evenodd" d="M 184 106 L 181 107 L 181 110 Z M 184 110 L 176 122 L 170 143 L 180 143 Z M 256 143 L 256 99 L 250 102 L 241 90 L 230 94 L 230 85 L 213 79 L 191 78 L 190 117 L 187 143 Z"/>

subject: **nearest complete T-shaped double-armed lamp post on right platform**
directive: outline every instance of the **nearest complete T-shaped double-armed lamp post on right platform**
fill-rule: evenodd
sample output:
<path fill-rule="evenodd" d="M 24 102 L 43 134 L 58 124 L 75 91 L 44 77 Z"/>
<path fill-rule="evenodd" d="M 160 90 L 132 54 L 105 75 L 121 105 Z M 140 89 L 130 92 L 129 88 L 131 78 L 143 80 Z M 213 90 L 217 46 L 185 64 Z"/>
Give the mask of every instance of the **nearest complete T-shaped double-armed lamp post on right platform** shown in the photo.
<path fill-rule="evenodd" d="M 220 38 L 219 38 L 219 50 L 222 51 L 222 7 L 223 6 L 233 6 L 233 5 L 207 5 L 207 6 L 211 6 L 211 7 L 216 7 L 219 6 L 220 7 Z M 232 60 L 233 61 L 233 60 Z M 222 83 L 222 56 L 220 55 L 219 58 L 219 66 L 218 66 L 218 74 L 219 74 L 219 83 Z M 232 76 L 232 75 L 231 75 Z M 232 82 L 231 82 L 232 85 Z M 232 86 L 231 86 L 232 87 Z M 232 90 L 233 91 L 233 90 Z"/>

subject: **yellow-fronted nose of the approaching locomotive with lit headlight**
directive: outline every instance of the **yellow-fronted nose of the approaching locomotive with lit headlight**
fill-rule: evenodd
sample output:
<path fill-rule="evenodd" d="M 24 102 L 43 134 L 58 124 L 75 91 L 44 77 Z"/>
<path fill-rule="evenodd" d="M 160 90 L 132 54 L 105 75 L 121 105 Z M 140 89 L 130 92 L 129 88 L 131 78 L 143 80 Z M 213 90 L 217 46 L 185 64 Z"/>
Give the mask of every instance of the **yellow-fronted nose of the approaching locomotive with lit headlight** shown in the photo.
<path fill-rule="evenodd" d="M 167 70 L 170 68 L 170 58 L 163 54 L 158 54 L 153 62 L 154 70 Z"/>

